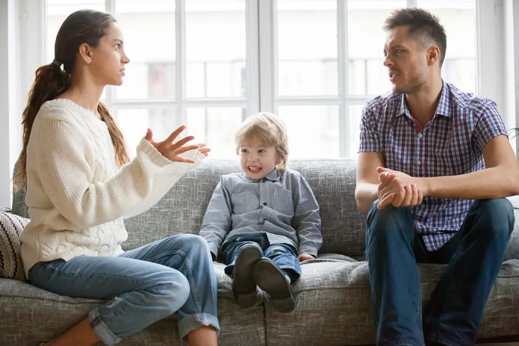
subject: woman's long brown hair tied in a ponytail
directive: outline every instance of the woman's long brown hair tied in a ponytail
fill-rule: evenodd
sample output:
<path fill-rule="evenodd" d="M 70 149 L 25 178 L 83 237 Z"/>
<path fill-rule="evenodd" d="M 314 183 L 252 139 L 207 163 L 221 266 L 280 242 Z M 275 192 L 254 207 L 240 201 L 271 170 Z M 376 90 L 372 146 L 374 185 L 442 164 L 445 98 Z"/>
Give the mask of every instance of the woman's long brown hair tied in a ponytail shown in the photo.
<path fill-rule="evenodd" d="M 40 66 L 36 70 L 36 78 L 29 92 L 29 101 L 23 110 L 23 147 L 18 158 L 19 171 L 13 177 L 15 188 L 26 188 L 27 145 L 39 108 L 47 101 L 55 99 L 70 87 L 76 57 L 81 44 L 97 47 L 99 39 L 106 34 L 108 27 L 116 20 L 108 13 L 94 10 L 80 10 L 72 13 L 61 24 L 56 43 L 54 44 L 54 62 Z M 61 68 L 63 65 L 63 69 Z M 108 126 L 115 157 L 119 165 L 129 161 L 121 131 L 114 118 L 103 103 L 99 102 L 98 112 Z"/>

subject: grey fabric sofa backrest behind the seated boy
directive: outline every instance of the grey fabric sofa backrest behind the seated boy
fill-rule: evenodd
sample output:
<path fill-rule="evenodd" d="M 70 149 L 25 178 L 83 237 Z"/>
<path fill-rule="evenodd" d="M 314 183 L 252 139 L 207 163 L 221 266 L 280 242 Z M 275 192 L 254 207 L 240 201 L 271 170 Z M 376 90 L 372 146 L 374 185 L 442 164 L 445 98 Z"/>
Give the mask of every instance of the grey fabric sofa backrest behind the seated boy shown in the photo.
<path fill-rule="evenodd" d="M 323 245 L 320 253 L 360 256 L 365 247 L 365 216 L 357 210 L 354 160 L 294 160 L 290 168 L 308 181 L 320 206 Z M 204 160 L 186 173 L 155 206 L 125 220 L 125 250 L 179 233 L 197 234 L 222 174 L 239 171 L 235 160 Z M 26 216 L 23 191 L 13 196 L 13 212 Z"/>

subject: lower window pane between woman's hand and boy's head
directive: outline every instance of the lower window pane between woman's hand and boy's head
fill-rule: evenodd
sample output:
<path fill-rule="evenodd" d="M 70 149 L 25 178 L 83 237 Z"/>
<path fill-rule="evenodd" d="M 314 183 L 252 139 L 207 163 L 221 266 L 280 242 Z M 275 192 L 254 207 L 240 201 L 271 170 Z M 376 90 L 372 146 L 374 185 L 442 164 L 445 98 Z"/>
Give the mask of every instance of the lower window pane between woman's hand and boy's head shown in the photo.
<path fill-rule="evenodd" d="M 187 108 L 188 135 L 194 143 L 206 143 L 213 159 L 237 159 L 234 135 L 243 121 L 241 107 Z"/>

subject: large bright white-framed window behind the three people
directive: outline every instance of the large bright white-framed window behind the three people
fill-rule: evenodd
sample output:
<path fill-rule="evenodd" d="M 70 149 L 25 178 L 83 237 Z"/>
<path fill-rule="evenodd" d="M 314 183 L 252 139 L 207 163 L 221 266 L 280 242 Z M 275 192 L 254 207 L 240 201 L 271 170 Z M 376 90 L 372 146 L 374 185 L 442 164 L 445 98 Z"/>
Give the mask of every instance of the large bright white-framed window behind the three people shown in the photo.
<path fill-rule="evenodd" d="M 431 10 L 447 31 L 443 78 L 477 91 L 475 2 L 47 0 L 46 57 L 71 12 L 114 13 L 131 63 L 103 99 L 132 155 L 147 127 L 163 139 L 186 124 L 212 158 L 236 158 L 234 132 L 261 109 L 286 122 L 291 159 L 355 158 L 364 103 L 391 88 L 384 19 L 405 6 Z"/>

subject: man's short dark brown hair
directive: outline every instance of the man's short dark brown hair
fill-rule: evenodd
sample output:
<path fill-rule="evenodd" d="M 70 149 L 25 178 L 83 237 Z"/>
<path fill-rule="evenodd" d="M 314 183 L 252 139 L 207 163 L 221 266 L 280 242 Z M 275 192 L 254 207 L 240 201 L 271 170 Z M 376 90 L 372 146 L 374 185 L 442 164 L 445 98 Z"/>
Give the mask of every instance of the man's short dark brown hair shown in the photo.
<path fill-rule="evenodd" d="M 426 9 L 407 7 L 391 12 L 386 18 L 383 29 L 392 30 L 395 26 L 409 25 L 409 36 L 414 35 L 420 44 L 434 43 L 440 49 L 440 67 L 445 59 L 447 50 L 447 35 L 438 17 Z"/>

